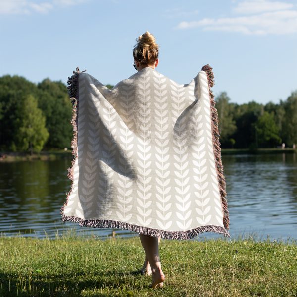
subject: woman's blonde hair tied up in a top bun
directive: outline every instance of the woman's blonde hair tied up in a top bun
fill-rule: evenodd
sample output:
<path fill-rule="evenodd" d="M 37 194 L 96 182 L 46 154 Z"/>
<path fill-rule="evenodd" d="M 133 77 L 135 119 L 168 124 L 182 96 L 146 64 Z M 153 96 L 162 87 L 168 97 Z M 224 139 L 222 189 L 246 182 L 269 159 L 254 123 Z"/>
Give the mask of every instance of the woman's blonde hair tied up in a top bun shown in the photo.
<path fill-rule="evenodd" d="M 155 37 L 148 31 L 137 39 L 133 49 L 133 57 L 136 62 L 142 65 L 152 65 L 159 55 L 159 46 Z"/>

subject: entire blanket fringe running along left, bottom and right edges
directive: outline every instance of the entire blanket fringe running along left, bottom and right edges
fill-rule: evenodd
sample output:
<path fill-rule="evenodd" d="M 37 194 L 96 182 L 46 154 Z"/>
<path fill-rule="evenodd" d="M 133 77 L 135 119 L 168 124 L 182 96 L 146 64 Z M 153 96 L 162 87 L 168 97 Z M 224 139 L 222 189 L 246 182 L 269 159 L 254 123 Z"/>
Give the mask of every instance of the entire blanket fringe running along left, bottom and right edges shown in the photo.
<path fill-rule="evenodd" d="M 202 70 L 207 72 L 207 77 L 208 77 L 208 83 L 209 85 L 212 87 L 213 85 L 213 74 L 211 71 L 211 67 L 210 68 L 205 68 L 206 66 L 209 66 L 208 64 L 202 67 Z M 204 69 L 203 69 L 204 68 Z M 86 71 L 86 70 L 84 70 Z M 84 72 L 82 71 L 82 72 Z M 79 68 L 76 68 L 76 71 L 73 71 L 73 75 L 71 77 L 68 77 L 68 95 L 71 99 L 71 102 L 73 104 L 73 109 L 72 109 L 72 127 L 73 127 L 73 138 L 71 141 L 71 148 L 72 148 L 72 154 L 74 155 L 74 159 L 72 160 L 71 163 L 71 167 L 68 168 L 68 178 L 72 181 L 71 183 L 71 189 L 69 192 L 66 193 L 67 197 L 66 197 L 66 202 L 64 202 L 64 205 L 61 207 L 61 215 L 62 215 L 62 221 L 65 223 L 66 221 L 71 221 L 71 222 L 75 222 L 75 223 L 79 223 L 79 225 L 82 227 L 93 227 L 93 228 L 115 228 L 115 229 L 122 229 L 122 230 L 130 230 L 133 232 L 137 232 L 140 234 L 144 234 L 144 235 L 148 235 L 148 236 L 153 236 L 153 237 L 161 237 L 161 238 L 165 238 L 165 239 L 191 239 L 195 236 L 197 236 L 199 233 L 202 232 L 216 232 L 216 233 L 220 233 L 223 234 L 224 237 L 228 236 L 230 237 L 230 234 L 227 231 L 227 227 L 228 227 L 228 223 L 229 223 L 229 218 L 228 218 L 228 209 L 227 209 L 227 203 L 226 203 L 226 199 L 225 199 L 225 180 L 224 180 L 224 175 L 223 175 L 223 167 L 221 165 L 220 162 L 220 147 L 219 147 L 219 143 L 218 141 L 215 142 L 215 157 L 216 157 L 216 164 L 217 164 L 217 170 L 219 171 L 218 174 L 219 175 L 219 182 L 220 182 L 220 193 L 221 193 L 221 197 L 222 197 L 222 201 L 224 201 L 224 227 L 222 226 L 212 226 L 212 225 L 207 225 L 207 226 L 201 226 L 201 227 L 197 227 L 191 230 L 185 230 L 185 231 L 166 231 L 166 230 L 159 230 L 159 229 L 153 229 L 153 228 L 149 228 L 149 227 L 144 227 L 144 226 L 139 226 L 139 225 L 135 225 L 135 224 L 130 224 L 130 223 L 126 223 L 126 222 L 120 222 L 120 221 L 114 221 L 114 220 L 104 220 L 104 219 L 81 219 L 79 217 L 76 216 L 66 216 L 64 214 L 64 208 L 68 203 L 68 198 L 72 192 L 73 189 L 73 167 L 74 167 L 74 163 L 78 157 L 77 154 L 77 127 L 78 127 L 78 76 L 79 73 L 81 73 L 79 71 Z M 211 85 L 212 84 L 212 85 Z M 211 92 L 211 90 L 210 90 Z M 212 93 L 210 93 L 210 97 L 211 99 L 213 99 L 213 95 Z M 213 101 L 214 102 L 214 101 Z M 218 127 L 217 127 L 217 117 L 215 117 L 216 115 L 216 109 L 214 108 L 214 103 L 212 102 L 212 122 L 214 123 L 214 128 L 212 129 L 213 131 L 213 138 L 214 140 L 218 139 Z M 215 128 L 216 127 L 216 128 Z M 225 200 L 224 200 L 225 199 Z M 227 226 L 227 227 L 226 227 Z"/>

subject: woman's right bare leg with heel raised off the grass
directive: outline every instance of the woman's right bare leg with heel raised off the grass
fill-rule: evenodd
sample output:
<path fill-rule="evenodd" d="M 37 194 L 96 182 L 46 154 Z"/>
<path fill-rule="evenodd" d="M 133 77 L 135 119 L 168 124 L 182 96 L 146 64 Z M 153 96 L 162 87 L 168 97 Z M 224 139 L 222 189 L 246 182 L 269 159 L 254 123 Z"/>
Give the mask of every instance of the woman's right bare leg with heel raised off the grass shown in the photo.
<path fill-rule="evenodd" d="M 159 257 L 159 238 L 143 234 L 139 234 L 139 237 L 151 267 L 151 288 L 156 288 L 165 280 Z"/>

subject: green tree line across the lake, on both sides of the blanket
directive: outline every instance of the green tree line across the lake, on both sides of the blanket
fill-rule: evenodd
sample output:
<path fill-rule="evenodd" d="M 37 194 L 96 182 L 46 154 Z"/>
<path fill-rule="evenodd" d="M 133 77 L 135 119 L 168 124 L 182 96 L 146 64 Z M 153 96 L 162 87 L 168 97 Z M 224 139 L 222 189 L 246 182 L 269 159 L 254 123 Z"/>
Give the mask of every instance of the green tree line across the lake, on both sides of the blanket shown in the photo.
<path fill-rule="evenodd" d="M 107 85 L 112 88 L 112 85 Z M 221 148 L 275 148 L 297 144 L 297 90 L 266 104 L 215 98 Z M 61 81 L 35 84 L 22 76 L 0 77 L 0 150 L 39 152 L 70 148 L 72 104 Z"/>

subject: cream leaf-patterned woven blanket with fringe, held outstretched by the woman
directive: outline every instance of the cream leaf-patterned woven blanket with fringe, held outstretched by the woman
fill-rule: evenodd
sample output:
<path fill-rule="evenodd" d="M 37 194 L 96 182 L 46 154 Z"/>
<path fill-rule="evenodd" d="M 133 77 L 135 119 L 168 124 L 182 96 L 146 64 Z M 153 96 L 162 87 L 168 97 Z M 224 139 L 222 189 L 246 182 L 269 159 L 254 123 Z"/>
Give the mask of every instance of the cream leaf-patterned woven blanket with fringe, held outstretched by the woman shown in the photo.
<path fill-rule="evenodd" d="M 178 84 L 145 67 L 111 90 L 79 68 L 62 221 L 165 239 L 230 237 L 212 68 Z"/>

